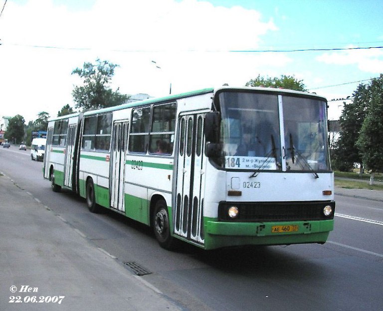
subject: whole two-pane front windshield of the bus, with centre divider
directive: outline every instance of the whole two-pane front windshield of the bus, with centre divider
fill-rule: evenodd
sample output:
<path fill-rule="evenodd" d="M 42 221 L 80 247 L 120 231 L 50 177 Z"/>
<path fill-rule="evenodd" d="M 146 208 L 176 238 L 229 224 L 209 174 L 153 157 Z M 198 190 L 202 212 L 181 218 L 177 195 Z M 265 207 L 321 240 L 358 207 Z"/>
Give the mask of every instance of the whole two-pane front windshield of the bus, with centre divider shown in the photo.
<path fill-rule="evenodd" d="M 316 98 L 219 93 L 227 169 L 329 170 L 326 110 Z M 283 122 L 280 119 L 283 118 Z M 282 139 L 281 139 L 282 138 Z"/>

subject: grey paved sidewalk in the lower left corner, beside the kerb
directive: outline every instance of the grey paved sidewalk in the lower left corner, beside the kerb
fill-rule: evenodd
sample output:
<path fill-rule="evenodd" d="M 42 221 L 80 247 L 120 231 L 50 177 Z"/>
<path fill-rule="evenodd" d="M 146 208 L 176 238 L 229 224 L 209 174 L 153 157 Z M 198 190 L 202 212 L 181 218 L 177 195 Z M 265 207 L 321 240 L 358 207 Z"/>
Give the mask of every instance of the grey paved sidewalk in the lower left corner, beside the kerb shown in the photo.
<path fill-rule="evenodd" d="M 0 310 L 180 309 L 0 176 Z"/>

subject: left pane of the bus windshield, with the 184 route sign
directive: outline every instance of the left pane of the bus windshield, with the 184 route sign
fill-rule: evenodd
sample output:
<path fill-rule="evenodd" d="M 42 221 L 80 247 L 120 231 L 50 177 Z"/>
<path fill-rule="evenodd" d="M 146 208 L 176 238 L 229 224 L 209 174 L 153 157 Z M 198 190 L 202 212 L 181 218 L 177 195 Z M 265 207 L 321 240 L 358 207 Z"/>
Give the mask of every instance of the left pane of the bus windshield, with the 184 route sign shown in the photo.
<path fill-rule="evenodd" d="M 277 95 L 225 92 L 219 99 L 225 167 L 279 169 Z"/>

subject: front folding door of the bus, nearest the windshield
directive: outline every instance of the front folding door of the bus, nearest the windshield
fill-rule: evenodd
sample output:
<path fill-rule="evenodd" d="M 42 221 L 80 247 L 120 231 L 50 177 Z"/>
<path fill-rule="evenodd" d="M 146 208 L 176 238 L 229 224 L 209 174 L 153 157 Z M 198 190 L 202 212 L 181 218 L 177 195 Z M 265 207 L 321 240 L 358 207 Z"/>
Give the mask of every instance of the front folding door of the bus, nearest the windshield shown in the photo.
<path fill-rule="evenodd" d="M 175 234 L 204 243 L 204 137 L 203 114 L 181 116 L 178 150 Z"/>

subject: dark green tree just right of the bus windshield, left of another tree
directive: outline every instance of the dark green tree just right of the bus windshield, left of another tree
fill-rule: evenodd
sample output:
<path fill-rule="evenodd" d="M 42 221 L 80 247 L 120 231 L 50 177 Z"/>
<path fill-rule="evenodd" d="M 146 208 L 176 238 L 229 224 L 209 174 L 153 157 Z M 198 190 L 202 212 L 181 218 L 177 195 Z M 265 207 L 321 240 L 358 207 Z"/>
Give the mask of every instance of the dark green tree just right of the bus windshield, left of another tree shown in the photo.
<path fill-rule="evenodd" d="M 350 171 L 354 167 L 354 163 L 360 163 L 362 172 L 362 153 L 356 142 L 369 106 L 369 92 L 366 85 L 360 84 L 353 93 L 353 97 L 354 100 L 351 103 L 344 103 L 339 120 L 342 130 L 339 140 L 335 144 L 333 162 L 335 167 L 341 171 Z"/>

